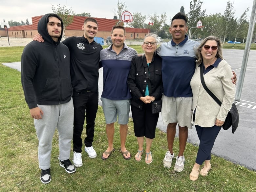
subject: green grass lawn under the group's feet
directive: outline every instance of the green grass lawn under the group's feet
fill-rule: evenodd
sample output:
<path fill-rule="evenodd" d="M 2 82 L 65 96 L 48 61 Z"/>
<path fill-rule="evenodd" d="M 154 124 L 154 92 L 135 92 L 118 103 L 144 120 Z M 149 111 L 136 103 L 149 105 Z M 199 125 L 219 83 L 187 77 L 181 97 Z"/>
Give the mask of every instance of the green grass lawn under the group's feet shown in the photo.
<path fill-rule="evenodd" d="M 212 169 L 207 177 L 200 176 L 197 181 L 189 180 L 189 173 L 194 165 L 198 146 L 187 143 L 184 156 L 185 169 L 176 173 L 162 165 L 167 150 L 166 134 L 156 131 L 152 145 L 153 162 L 145 164 L 145 153 L 142 160 L 134 159 L 137 139 L 134 136 L 132 119 L 129 120 L 129 131 L 126 147 L 132 154 L 131 160 L 124 160 L 118 148 L 119 128 L 115 124 L 114 147 L 116 151 L 108 160 L 100 156 L 107 148 L 105 119 L 99 106 L 96 125 L 94 148 L 95 159 L 90 159 L 83 151 L 83 166 L 74 174 L 68 174 L 58 163 L 58 135 L 53 138 L 51 158 L 52 181 L 41 183 L 38 168 L 38 140 L 25 102 L 20 72 L 2 65 L 3 62 L 20 61 L 23 47 L 0 48 L 0 191 L 59 191 L 59 192 L 253 192 L 256 191 L 256 172 L 234 164 L 216 156 L 212 156 Z M 4 55 L 4 57 L 2 57 Z M 5 56 L 9 55 L 9 56 Z M 190 130 L 191 131 L 191 130 Z M 85 138 L 85 131 L 82 138 Z M 145 146 L 144 146 L 145 149 Z M 174 151 L 179 150 L 178 138 L 175 138 Z M 238 154 L 239 155 L 239 154 Z M 70 159 L 73 159 L 71 150 Z"/>

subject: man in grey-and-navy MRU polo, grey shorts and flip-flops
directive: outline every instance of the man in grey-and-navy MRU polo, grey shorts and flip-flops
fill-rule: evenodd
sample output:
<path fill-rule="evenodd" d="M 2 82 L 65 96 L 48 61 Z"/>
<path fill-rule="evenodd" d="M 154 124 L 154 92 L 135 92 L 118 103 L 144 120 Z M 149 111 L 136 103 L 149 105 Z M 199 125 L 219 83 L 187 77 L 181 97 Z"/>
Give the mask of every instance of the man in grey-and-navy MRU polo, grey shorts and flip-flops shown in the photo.
<path fill-rule="evenodd" d="M 112 152 L 114 139 L 114 123 L 120 124 L 120 152 L 123 158 L 128 160 L 131 154 L 125 148 L 128 132 L 128 120 L 130 112 L 130 99 L 132 98 L 127 84 L 127 78 L 131 67 L 131 60 L 137 56 L 137 52 L 124 44 L 125 29 L 116 25 L 112 28 L 112 45 L 100 51 L 100 63 L 103 67 L 103 91 L 101 95 L 102 108 L 106 120 L 106 134 L 108 148 L 102 154 L 101 159 L 107 160 Z"/>

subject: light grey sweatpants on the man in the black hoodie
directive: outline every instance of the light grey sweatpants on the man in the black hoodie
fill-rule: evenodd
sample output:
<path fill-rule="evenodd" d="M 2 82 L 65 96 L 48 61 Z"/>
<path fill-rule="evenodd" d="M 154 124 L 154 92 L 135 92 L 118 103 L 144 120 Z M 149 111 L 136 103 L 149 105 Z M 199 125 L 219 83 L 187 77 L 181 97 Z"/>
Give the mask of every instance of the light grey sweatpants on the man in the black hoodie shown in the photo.
<path fill-rule="evenodd" d="M 38 105 L 44 115 L 42 119 L 34 119 L 38 143 L 38 160 L 40 169 L 49 169 L 52 140 L 55 129 L 59 136 L 59 160 L 67 160 L 70 156 L 73 137 L 74 106 L 73 99 L 60 105 Z"/>

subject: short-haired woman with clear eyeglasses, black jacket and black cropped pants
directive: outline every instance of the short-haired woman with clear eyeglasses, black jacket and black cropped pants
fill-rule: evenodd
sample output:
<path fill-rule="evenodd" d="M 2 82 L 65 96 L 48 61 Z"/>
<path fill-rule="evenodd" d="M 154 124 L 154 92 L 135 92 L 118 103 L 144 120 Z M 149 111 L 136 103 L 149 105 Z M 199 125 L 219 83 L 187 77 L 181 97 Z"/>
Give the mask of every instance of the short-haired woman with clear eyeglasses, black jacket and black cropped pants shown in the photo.
<path fill-rule="evenodd" d="M 152 114 L 152 101 L 161 100 L 163 93 L 162 59 L 156 54 L 157 39 L 155 34 L 147 34 L 141 46 L 144 54 L 132 59 L 127 82 L 132 94 L 131 111 L 134 133 L 139 145 L 135 160 L 141 160 L 145 138 L 145 163 L 150 164 L 153 161 L 150 148 L 155 138 L 159 117 L 159 113 Z M 147 78 L 148 74 L 149 78 Z"/>

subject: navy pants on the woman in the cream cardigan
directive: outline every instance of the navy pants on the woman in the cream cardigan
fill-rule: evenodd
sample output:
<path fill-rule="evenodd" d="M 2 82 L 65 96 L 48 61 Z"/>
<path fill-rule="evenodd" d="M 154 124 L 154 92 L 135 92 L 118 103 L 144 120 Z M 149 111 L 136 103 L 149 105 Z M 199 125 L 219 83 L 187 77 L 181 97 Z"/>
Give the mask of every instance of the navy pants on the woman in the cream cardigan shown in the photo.
<path fill-rule="evenodd" d="M 212 148 L 221 130 L 221 126 L 200 127 L 196 125 L 196 130 L 200 140 L 196 163 L 202 165 L 205 160 L 211 159 Z"/>

